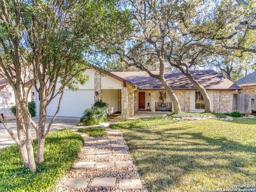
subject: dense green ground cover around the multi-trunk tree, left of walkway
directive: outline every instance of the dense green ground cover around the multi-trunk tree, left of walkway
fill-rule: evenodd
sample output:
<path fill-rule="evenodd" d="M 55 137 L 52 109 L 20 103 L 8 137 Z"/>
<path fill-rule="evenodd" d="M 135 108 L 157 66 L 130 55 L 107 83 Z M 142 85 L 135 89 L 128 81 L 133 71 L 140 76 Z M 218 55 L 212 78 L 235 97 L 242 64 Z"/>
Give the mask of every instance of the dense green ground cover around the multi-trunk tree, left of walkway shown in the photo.
<path fill-rule="evenodd" d="M 35 173 L 23 165 L 17 145 L 0 150 L 0 191 L 52 191 L 56 182 L 70 170 L 83 142 L 82 136 L 67 128 L 51 132 L 45 141 L 44 162 L 37 165 Z M 35 142 L 33 146 L 36 153 Z"/>

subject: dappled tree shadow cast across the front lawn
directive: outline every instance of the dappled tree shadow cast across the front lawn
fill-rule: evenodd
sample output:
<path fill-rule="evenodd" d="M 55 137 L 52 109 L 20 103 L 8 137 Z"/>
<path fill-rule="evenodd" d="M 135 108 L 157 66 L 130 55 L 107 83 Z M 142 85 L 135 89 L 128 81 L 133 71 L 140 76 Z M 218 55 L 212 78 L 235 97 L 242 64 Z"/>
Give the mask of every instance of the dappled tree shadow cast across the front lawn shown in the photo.
<path fill-rule="evenodd" d="M 151 191 L 165 191 L 174 186 L 183 186 L 180 183 L 181 177 L 191 172 L 206 173 L 212 180 L 222 179 L 220 175 L 226 172 L 239 173 L 241 182 L 242 175 L 255 178 L 255 172 L 244 168 L 248 165 L 256 166 L 256 147 L 223 137 L 209 138 L 201 132 L 187 132 L 188 128 L 189 126 L 170 130 L 134 128 L 129 134 L 124 134 L 128 145 L 131 142 L 129 148 L 132 156 L 134 153 L 134 162 L 139 171 L 146 177 L 149 174 L 154 175 L 147 180 Z M 184 132 L 176 133 L 177 130 Z M 139 142 L 134 141 L 134 138 Z M 140 155 L 135 154 L 136 152 Z M 252 159 L 246 158 L 250 155 Z M 214 178 L 213 170 L 219 170 L 214 174 L 220 174 L 220 178 Z M 230 184 L 232 181 L 231 179 Z"/>

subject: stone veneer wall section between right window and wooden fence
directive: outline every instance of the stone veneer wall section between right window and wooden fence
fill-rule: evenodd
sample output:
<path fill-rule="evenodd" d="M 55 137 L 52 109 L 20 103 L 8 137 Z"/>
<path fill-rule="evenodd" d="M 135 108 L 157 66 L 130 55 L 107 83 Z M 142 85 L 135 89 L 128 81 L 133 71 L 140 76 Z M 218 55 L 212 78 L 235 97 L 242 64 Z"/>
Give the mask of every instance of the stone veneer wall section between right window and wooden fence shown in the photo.
<path fill-rule="evenodd" d="M 233 91 L 214 90 L 213 112 L 228 113 L 233 110 Z"/>

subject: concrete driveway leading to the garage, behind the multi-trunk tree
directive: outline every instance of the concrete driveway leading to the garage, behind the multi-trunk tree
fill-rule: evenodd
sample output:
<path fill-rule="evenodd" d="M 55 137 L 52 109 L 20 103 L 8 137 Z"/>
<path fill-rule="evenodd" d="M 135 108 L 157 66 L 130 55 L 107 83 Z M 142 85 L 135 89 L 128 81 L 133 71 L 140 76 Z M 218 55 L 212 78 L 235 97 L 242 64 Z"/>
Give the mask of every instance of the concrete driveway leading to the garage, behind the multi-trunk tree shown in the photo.
<path fill-rule="evenodd" d="M 32 118 L 36 123 L 38 123 L 38 117 Z M 45 127 L 47 128 L 48 124 L 50 123 L 52 117 L 48 116 L 46 118 L 46 124 Z M 57 117 L 51 128 L 51 131 L 61 130 L 63 128 L 69 128 L 70 130 L 77 130 L 76 124 L 79 122 L 80 118 L 77 117 Z M 7 124 L 10 126 L 10 128 L 13 130 L 13 132 L 17 135 L 16 131 L 16 121 L 9 121 Z M 32 130 L 32 137 L 36 138 L 36 131 L 34 128 Z M 6 146 L 9 146 L 11 144 L 14 144 L 14 140 L 10 136 L 10 134 L 7 132 L 7 130 L 4 128 L 4 125 L 0 123 L 0 149 L 5 148 Z"/>

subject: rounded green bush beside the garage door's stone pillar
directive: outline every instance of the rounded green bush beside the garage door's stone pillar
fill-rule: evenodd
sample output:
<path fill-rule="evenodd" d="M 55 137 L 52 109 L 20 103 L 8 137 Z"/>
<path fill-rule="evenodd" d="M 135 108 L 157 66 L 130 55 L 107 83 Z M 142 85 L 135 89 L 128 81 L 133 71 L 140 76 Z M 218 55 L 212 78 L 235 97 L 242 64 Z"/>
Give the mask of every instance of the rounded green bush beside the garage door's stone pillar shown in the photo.
<path fill-rule="evenodd" d="M 96 125 L 108 121 L 108 104 L 97 101 L 92 108 L 84 110 L 84 114 L 80 119 L 83 125 Z"/>

